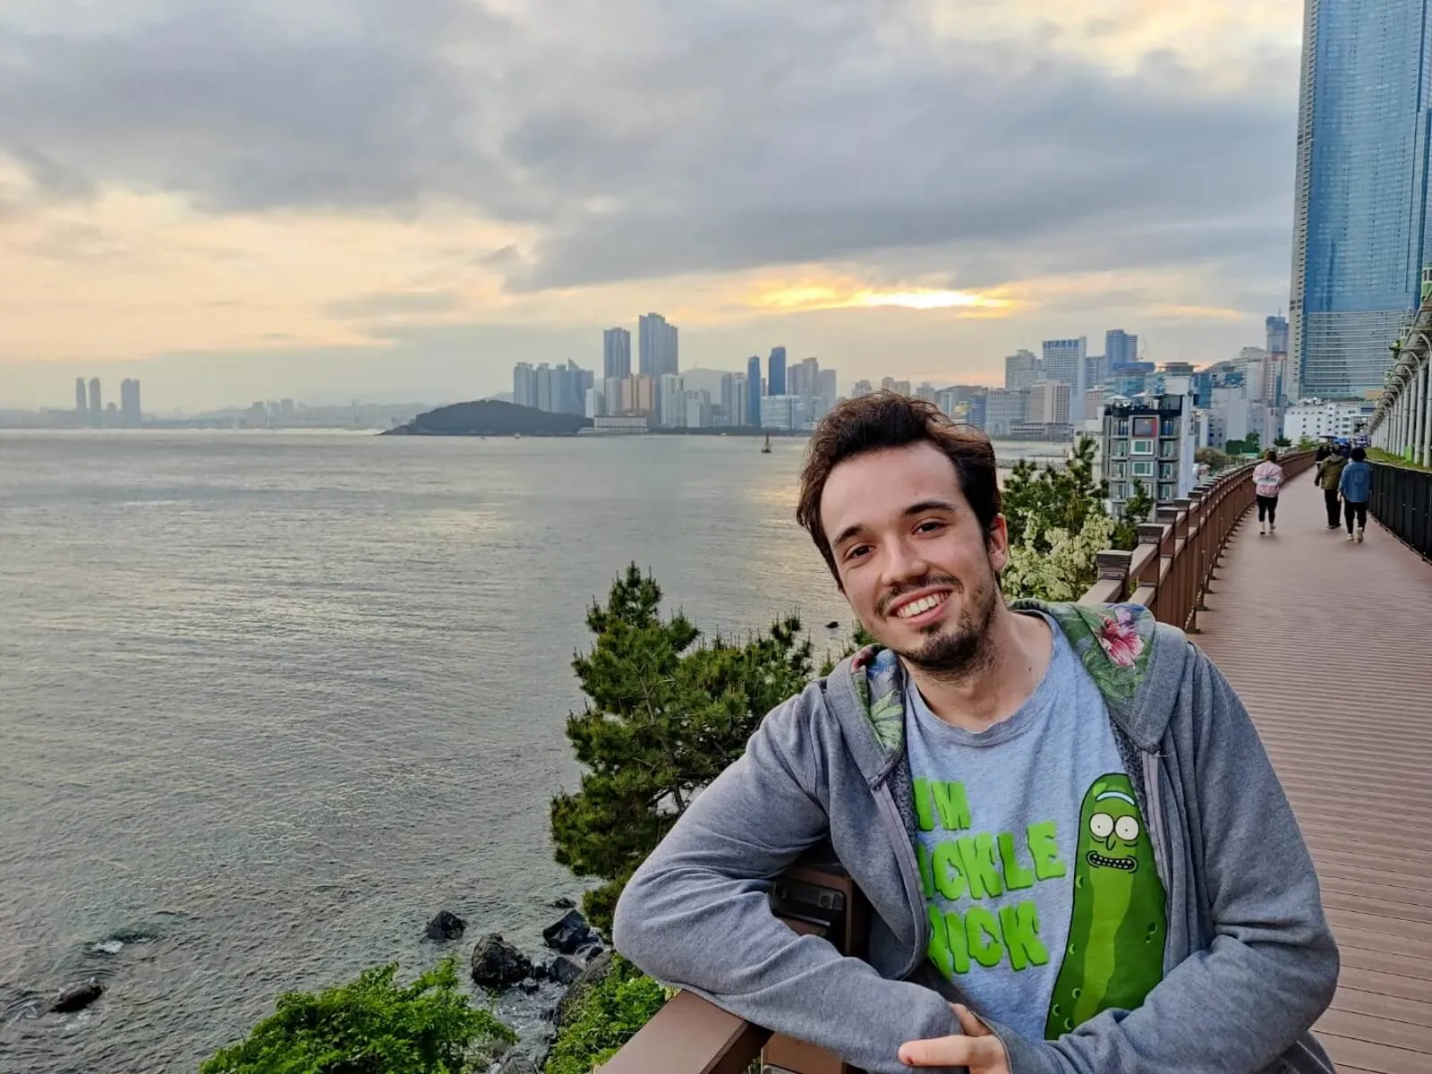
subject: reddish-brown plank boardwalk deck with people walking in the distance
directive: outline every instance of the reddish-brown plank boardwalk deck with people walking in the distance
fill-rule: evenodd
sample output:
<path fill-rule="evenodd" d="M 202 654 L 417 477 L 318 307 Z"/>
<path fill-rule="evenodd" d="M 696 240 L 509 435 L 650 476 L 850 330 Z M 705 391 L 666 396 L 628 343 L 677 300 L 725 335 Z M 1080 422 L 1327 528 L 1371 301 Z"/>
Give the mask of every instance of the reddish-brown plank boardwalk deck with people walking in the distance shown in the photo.
<path fill-rule="evenodd" d="M 1340 1071 L 1432 1071 L 1432 566 L 1369 520 L 1326 528 L 1310 474 L 1277 533 L 1229 543 L 1196 640 L 1292 799 L 1342 951 L 1317 1034 Z"/>

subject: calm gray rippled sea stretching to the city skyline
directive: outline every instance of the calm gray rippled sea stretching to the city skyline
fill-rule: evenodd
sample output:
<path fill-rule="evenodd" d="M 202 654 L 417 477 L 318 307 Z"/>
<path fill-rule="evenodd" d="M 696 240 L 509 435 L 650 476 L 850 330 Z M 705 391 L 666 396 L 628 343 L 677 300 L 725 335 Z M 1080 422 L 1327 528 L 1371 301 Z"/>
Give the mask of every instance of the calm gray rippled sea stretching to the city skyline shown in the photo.
<path fill-rule="evenodd" d="M 192 1071 L 284 990 L 425 968 L 444 906 L 537 948 L 616 573 L 846 636 L 803 448 L 0 432 L 0 1070 Z"/>

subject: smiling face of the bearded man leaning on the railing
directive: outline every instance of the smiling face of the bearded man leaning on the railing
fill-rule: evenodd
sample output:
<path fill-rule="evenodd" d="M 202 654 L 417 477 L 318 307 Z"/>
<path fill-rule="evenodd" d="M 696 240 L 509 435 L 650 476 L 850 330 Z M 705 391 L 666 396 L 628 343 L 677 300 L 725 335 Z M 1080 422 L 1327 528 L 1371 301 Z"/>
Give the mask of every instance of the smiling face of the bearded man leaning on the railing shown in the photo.
<path fill-rule="evenodd" d="M 939 448 L 841 463 L 825 483 L 821 523 L 845 599 L 881 644 L 947 674 L 984 656 L 1008 533 L 1002 517 L 981 528 Z"/>

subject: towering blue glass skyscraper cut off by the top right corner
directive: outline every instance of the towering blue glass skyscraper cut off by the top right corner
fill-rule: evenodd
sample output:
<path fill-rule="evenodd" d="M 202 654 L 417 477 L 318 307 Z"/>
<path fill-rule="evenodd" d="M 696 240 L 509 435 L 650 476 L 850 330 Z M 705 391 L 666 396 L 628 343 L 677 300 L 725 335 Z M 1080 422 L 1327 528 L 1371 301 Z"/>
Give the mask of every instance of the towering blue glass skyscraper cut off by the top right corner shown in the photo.
<path fill-rule="evenodd" d="M 1432 10 L 1306 3 L 1287 395 L 1339 398 L 1382 388 L 1432 255 Z"/>

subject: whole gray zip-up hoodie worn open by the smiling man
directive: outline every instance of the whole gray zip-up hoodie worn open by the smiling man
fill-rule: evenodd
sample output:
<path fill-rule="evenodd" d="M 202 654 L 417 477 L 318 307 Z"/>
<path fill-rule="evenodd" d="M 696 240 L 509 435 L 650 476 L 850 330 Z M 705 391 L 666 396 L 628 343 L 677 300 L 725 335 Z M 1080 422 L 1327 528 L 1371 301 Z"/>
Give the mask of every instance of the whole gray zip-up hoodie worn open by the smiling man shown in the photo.
<path fill-rule="evenodd" d="M 1012 1074 L 1323 1074 L 1309 1034 L 1337 949 L 1313 863 L 1233 689 L 1138 606 L 1021 601 L 1064 630 L 1098 684 L 1167 892 L 1164 978 L 1133 1011 L 1057 1041 L 988 1021 Z M 905 1041 L 959 1032 L 958 987 L 927 958 L 904 670 L 861 650 L 775 709 L 637 869 L 614 945 L 643 971 L 872 1074 Z M 866 959 L 796 935 L 772 876 L 829 841 L 869 899 Z M 979 1014 L 978 1008 L 975 1010 Z"/>

